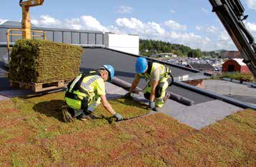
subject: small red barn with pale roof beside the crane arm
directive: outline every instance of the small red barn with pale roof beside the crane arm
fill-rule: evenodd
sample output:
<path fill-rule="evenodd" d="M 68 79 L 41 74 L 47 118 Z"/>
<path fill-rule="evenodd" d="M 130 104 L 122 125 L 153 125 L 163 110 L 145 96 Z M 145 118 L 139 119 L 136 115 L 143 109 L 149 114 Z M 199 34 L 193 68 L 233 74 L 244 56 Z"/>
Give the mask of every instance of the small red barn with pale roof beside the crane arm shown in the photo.
<path fill-rule="evenodd" d="M 222 72 L 240 72 L 250 73 L 247 65 L 242 62 L 243 59 L 230 59 L 222 65 Z"/>

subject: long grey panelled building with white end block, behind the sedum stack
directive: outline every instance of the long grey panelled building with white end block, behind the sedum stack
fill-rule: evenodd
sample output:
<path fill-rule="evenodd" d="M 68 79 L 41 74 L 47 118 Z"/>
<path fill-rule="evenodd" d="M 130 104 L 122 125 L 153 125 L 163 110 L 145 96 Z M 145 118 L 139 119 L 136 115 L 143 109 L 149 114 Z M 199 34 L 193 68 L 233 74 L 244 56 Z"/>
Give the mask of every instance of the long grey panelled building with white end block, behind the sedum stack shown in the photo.
<path fill-rule="evenodd" d="M 21 22 L 6 21 L 0 25 L 0 44 L 6 44 L 6 31 L 7 29 L 21 29 Z M 54 29 L 34 26 L 31 24 L 31 30 L 44 31 L 46 34 L 46 40 L 74 44 L 80 46 L 92 46 L 92 47 L 107 47 L 109 49 L 115 49 L 118 51 L 124 51 L 129 54 L 139 54 L 139 36 L 132 34 L 114 34 L 112 32 L 103 31 L 87 31 L 78 29 Z M 22 36 L 14 36 L 11 34 L 20 34 L 21 31 L 11 31 L 9 42 L 14 44 Z M 33 39 L 38 39 L 33 35 L 41 35 L 34 32 Z"/>

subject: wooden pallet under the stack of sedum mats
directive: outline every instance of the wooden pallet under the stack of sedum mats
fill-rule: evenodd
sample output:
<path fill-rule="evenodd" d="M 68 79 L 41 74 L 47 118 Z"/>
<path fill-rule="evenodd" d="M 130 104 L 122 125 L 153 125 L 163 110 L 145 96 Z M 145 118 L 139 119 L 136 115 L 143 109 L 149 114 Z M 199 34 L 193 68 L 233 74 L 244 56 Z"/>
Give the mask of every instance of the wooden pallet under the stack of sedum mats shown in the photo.
<path fill-rule="evenodd" d="M 67 85 L 71 80 L 60 80 L 46 83 L 23 83 L 19 81 L 9 81 L 11 87 L 31 89 L 34 92 L 48 91 L 54 88 L 61 88 Z"/>

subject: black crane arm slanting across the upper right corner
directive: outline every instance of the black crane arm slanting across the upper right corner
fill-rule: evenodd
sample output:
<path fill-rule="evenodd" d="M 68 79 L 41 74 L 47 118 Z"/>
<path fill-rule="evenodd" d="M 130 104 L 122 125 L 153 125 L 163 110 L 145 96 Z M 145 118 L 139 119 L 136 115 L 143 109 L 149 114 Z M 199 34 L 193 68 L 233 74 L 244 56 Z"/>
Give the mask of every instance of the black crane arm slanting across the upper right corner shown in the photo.
<path fill-rule="evenodd" d="M 235 46 L 244 58 L 256 79 L 256 45 L 252 34 L 246 29 L 243 20 L 247 19 L 240 0 L 209 0 L 212 11 L 217 14 Z"/>

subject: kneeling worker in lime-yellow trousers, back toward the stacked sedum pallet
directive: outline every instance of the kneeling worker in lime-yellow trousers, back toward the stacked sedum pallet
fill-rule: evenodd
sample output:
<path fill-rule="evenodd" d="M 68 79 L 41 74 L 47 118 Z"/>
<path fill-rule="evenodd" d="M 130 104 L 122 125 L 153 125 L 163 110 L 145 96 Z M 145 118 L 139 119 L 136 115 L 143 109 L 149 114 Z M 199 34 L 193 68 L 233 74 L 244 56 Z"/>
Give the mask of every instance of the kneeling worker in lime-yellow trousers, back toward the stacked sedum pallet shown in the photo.
<path fill-rule="evenodd" d="M 122 116 L 116 113 L 106 98 L 105 84 L 114 77 L 114 68 L 111 65 L 102 66 L 99 71 L 89 71 L 80 74 L 67 86 L 65 101 L 68 108 L 62 108 L 64 121 L 73 121 L 73 118 L 87 120 L 88 116 L 102 100 L 104 108 L 112 113 L 118 121 Z"/>

